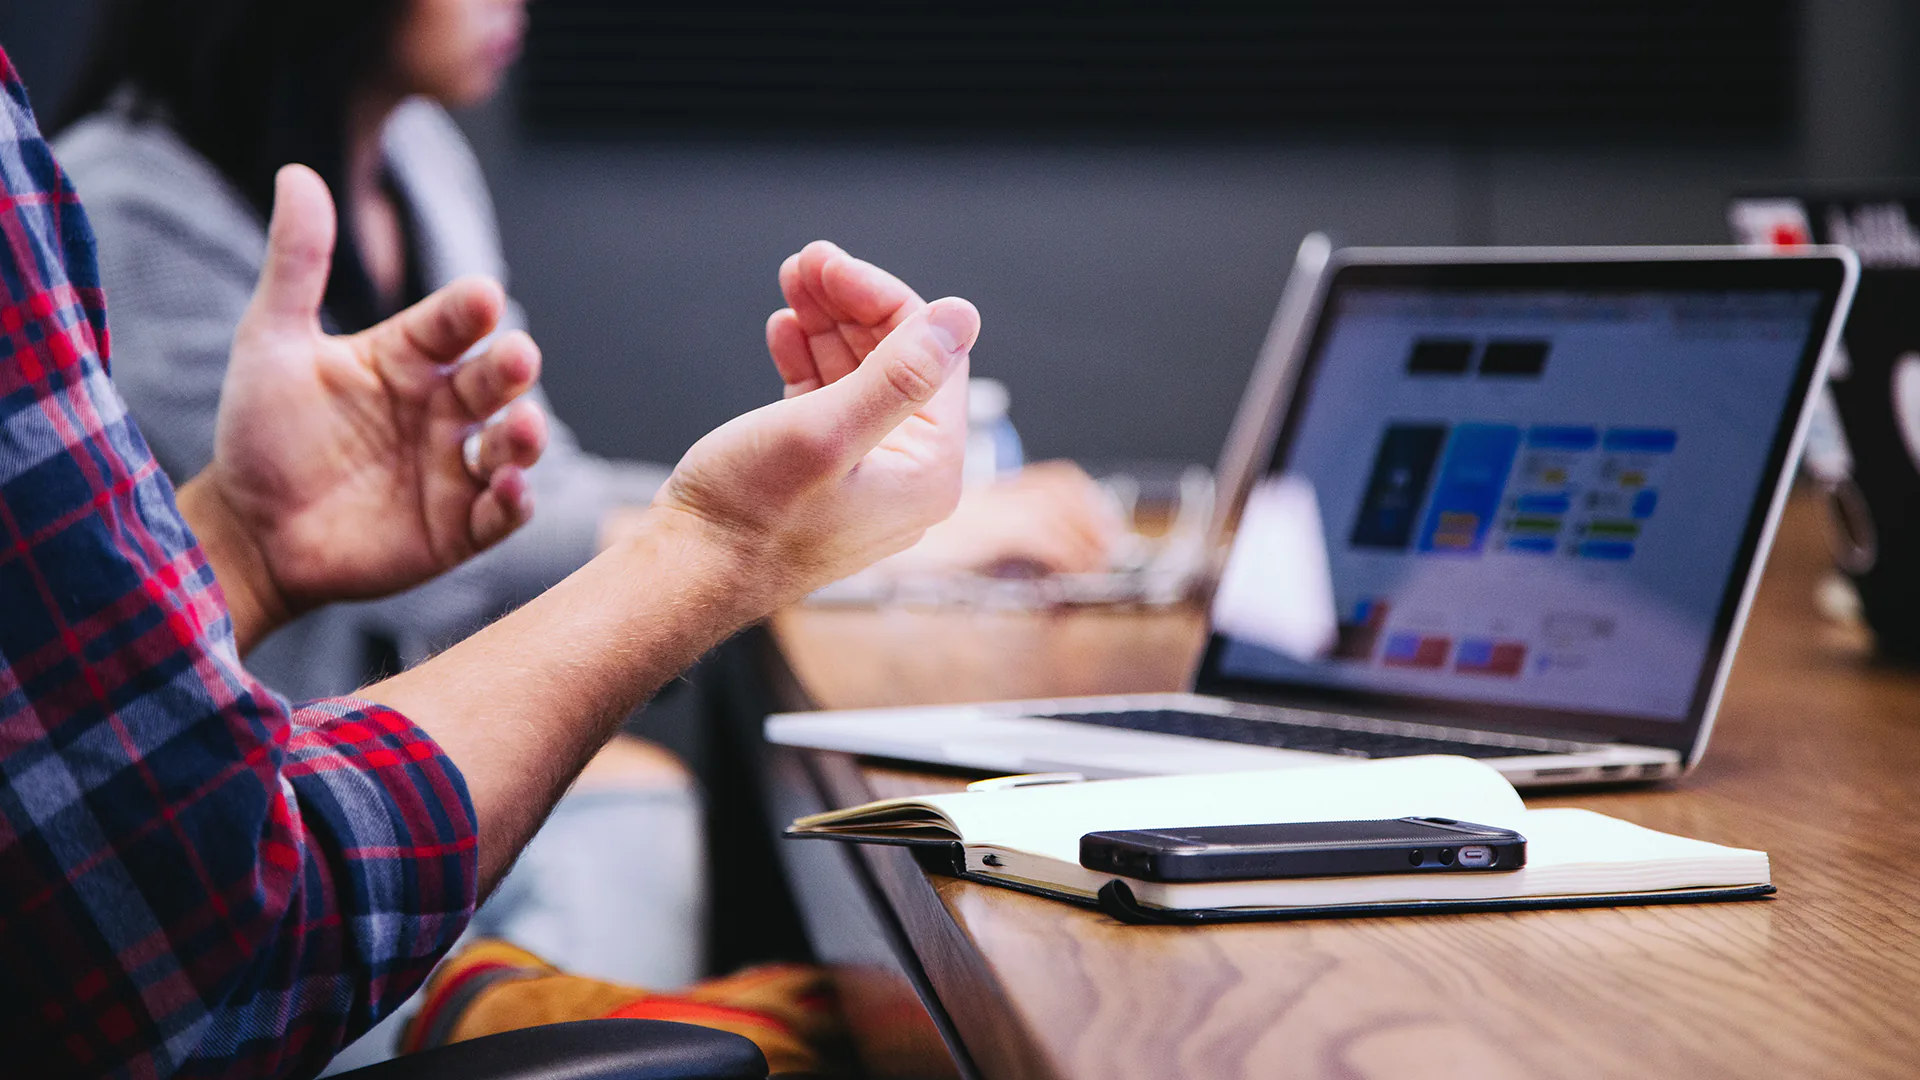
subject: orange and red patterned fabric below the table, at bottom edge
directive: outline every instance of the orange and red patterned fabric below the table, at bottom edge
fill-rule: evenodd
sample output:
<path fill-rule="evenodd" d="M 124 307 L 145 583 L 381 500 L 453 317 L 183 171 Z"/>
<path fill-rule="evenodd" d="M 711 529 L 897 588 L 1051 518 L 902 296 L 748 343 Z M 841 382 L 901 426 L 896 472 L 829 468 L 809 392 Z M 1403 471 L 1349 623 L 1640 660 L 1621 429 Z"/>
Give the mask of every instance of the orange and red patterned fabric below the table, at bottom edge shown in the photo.
<path fill-rule="evenodd" d="M 484 980 L 492 982 L 482 986 Z M 461 990 L 470 986 L 478 992 L 463 995 Z M 449 1015 L 453 1009 L 459 1015 Z M 774 1074 L 820 1072 L 824 1057 L 843 1045 L 828 976 L 814 967 L 755 967 L 674 994 L 655 994 L 564 974 L 526 949 L 488 940 L 447 957 L 434 970 L 420 1013 L 401 1036 L 401 1049 L 413 1053 L 440 1042 L 601 1017 L 733 1032 L 760 1047 Z"/>

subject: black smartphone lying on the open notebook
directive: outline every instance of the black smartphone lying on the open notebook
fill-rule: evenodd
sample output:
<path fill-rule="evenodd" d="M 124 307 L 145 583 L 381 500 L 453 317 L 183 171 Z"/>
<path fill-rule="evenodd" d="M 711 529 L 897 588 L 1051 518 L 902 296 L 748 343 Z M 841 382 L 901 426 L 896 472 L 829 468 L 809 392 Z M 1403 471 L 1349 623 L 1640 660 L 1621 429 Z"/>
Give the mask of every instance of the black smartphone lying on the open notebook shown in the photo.
<path fill-rule="evenodd" d="M 1142 882 L 1517 871 L 1526 838 L 1446 817 L 1129 828 L 1081 836 L 1081 867 Z"/>

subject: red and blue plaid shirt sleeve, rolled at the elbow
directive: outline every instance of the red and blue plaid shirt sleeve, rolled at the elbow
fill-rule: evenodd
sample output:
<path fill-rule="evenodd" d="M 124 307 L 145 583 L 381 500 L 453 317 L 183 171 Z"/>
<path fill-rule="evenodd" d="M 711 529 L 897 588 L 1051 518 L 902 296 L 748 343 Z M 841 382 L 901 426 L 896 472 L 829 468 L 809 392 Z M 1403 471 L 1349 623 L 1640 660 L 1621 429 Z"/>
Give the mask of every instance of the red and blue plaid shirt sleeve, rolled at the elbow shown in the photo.
<path fill-rule="evenodd" d="M 474 888 L 472 805 L 422 730 L 240 667 L 0 54 L 0 1072 L 317 1072 Z"/>

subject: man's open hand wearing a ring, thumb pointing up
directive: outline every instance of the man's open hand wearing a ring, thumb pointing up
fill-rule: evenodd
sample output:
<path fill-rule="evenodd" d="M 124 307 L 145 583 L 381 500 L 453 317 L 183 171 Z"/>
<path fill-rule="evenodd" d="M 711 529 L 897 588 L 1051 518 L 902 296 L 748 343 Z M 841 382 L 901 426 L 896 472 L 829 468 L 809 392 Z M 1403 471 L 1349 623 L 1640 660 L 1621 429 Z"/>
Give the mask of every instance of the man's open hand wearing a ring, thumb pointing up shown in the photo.
<path fill-rule="evenodd" d="M 461 359 L 499 323 L 497 282 L 463 279 L 328 336 L 332 246 L 326 184 L 288 165 L 204 475 L 292 611 L 419 584 L 505 538 L 532 513 L 524 469 L 547 432 L 515 402 L 540 375 L 532 338 L 501 334 Z"/>

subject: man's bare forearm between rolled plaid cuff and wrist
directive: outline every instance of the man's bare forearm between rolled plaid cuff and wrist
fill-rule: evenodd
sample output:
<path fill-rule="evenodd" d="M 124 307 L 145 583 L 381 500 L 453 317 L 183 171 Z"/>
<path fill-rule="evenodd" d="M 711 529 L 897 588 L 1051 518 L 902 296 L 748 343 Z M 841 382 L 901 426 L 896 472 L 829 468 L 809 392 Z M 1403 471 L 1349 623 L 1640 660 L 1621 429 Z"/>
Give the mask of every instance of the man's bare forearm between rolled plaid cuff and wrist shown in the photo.
<path fill-rule="evenodd" d="M 430 661 L 367 688 L 426 728 L 467 778 L 490 890 L 618 723 L 776 590 L 680 511 Z"/>

